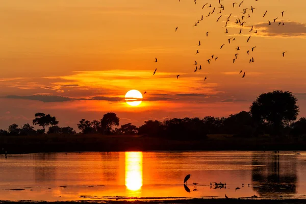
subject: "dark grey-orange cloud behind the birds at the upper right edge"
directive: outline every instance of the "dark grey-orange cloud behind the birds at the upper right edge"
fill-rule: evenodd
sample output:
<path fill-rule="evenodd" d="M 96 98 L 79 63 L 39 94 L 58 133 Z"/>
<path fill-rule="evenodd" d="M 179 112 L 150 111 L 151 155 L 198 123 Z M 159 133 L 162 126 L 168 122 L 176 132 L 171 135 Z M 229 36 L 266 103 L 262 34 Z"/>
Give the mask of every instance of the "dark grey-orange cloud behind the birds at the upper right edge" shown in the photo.
<path fill-rule="evenodd" d="M 278 25 L 278 22 L 267 22 L 254 25 L 259 29 L 263 36 L 269 37 L 304 37 L 306 36 L 306 24 L 295 21 L 284 21 L 284 25 Z M 282 22 L 283 23 L 283 22 Z"/>

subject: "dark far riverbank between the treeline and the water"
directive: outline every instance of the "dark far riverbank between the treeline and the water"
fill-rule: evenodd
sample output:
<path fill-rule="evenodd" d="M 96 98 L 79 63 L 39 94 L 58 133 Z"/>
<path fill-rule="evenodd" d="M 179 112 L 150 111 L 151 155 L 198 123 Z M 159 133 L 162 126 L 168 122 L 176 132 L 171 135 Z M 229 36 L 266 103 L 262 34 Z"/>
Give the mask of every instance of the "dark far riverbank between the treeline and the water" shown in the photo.
<path fill-rule="evenodd" d="M 188 137 L 188 136 L 186 136 Z M 1 136 L 8 154 L 70 151 L 187 151 L 187 150 L 306 150 L 304 138 L 238 138 L 209 135 L 202 140 L 179 141 L 147 136 L 35 135 Z M 0 149 L 0 151 L 1 151 Z M 3 154 L 3 152 L 2 152 Z"/>

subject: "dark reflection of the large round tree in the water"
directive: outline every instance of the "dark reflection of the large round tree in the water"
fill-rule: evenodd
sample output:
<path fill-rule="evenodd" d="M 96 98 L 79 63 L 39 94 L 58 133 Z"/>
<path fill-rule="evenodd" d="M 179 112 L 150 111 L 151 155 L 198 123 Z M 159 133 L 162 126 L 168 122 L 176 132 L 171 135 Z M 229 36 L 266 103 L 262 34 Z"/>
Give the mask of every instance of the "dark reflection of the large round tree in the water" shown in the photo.
<path fill-rule="evenodd" d="M 254 155 L 252 165 L 253 190 L 260 196 L 279 196 L 283 193 L 292 196 L 296 193 L 296 159 L 292 155 L 275 152 Z"/>

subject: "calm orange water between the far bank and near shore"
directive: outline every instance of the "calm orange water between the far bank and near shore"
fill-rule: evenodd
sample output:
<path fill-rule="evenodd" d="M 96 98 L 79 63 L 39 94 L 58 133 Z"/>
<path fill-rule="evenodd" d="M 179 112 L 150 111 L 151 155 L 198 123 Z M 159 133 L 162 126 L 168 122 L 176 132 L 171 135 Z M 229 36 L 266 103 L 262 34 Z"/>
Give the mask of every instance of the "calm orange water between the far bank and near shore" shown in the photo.
<path fill-rule="evenodd" d="M 8 155 L 7 159 L 0 155 L 0 200 L 223 198 L 225 194 L 306 198 L 306 152 L 295 153 L 84 152 Z M 192 174 L 189 189 L 183 185 L 187 174 Z M 226 188 L 211 188 L 210 182 L 225 182 Z M 241 189 L 235 191 L 236 187 Z"/>

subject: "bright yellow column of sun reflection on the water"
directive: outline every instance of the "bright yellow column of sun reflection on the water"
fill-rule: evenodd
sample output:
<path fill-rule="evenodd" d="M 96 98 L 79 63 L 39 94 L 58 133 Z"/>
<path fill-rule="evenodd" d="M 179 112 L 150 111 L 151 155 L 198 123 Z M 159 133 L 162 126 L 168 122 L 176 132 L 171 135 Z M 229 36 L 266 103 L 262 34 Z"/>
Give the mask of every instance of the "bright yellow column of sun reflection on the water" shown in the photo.
<path fill-rule="evenodd" d="M 142 187 L 142 152 L 125 152 L 125 186 L 137 191 Z"/>

